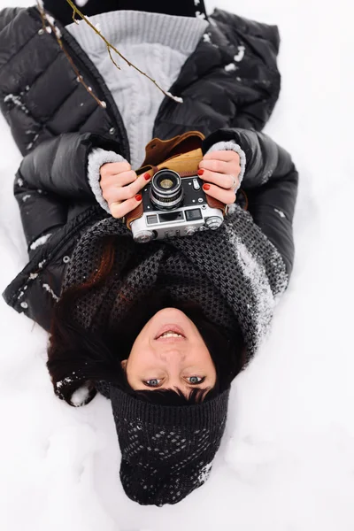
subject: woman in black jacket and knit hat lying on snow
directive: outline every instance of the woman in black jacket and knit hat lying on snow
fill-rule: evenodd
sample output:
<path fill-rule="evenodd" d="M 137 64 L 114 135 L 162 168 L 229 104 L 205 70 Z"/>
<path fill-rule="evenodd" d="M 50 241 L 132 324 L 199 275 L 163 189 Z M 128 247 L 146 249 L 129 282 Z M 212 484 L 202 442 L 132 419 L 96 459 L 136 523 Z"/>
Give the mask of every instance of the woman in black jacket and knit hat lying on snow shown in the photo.
<path fill-rule="evenodd" d="M 127 496 L 175 504 L 208 477 L 231 381 L 293 266 L 296 168 L 260 133 L 279 96 L 278 30 L 219 9 L 208 17 L 203 0 L 152 1 L 149 12 L 138 0 L 89 0 L 82 9 L 102 34 L 179 103 L 117 70 L 65 0 L 44 5 L 105 105 L 36 7 L 1 12 L 1 107 L 24 155 L 15 195 L 29 252 L 4 298 L 50 332 L 60 398 L 111 399 Z M 234 208 L 218 230 L 137 243 L 123 217 L 150 181 L 136 171 L 157 163 L 145 145 L 189 131 L 204 138 L 205 194 Z"/>

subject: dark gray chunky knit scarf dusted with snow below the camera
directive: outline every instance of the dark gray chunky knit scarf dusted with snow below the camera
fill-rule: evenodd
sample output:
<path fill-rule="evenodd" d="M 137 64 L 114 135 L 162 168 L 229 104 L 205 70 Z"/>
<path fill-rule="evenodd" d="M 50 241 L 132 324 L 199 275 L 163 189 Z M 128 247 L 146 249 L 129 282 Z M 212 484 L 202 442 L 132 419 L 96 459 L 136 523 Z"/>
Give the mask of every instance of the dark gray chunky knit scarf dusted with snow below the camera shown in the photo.
<path fill-rule="evenodd" d="M 247 359 L 253 356 L 266 335 L 277 299 L 286 289 L 288 275 L 279 252 L 249 212 L 236 206 L 216 231 L 147 244 L 135 243 L 118 219 L 104 219 L 89 229 L 74 250 L 64 291 L 95 272 L 105 236 L 117 236 L 114 266 L 104 285 L 76 304 L 73 318 L 81 327 L 99 330 L 103 323 L 114 327 L 130 304 L 157 286 L 166 289 L 173 300 L 202 305 L 206 317 L 231 335 L 237 322 Z"/>

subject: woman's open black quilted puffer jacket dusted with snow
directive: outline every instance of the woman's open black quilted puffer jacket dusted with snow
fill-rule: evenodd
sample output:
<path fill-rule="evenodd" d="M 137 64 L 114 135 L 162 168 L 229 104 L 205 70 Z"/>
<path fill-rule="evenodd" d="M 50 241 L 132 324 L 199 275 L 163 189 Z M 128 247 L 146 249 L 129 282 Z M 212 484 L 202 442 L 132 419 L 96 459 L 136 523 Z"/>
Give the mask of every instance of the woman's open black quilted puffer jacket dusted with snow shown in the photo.
<path fill-rule="evenodd" d="M 197 129 L 206 136 L 204 152 L 235 139 L 246 153 L 243 188 L 250 212 L 290 273 L 297 173 L 289 154 L 256 132 L 279 95 L 278 30 L 220 10 L 209 19 L 212 42 L 201 39 L 170 89 L 184 103 L 165 97 L 153 136 L 167 139 Z M 4 298 L 46 329 L 74 245 L 107 216 L 87 181 L 89 150 L 102 147 L 130 159 L 127 132 L 104 80 L 73 37 L 61 31 L 66 50 L 106 109 L 77 81 L 53 35 L 42 31 L 36 8 L 0 13 L 0 104 L 25 156 L 15 195 L 30 257 Z M 245 48 L 240 68 L 225 69 L 238 46 Z M 38 238 L 48 234 L 40 244 Z"/>

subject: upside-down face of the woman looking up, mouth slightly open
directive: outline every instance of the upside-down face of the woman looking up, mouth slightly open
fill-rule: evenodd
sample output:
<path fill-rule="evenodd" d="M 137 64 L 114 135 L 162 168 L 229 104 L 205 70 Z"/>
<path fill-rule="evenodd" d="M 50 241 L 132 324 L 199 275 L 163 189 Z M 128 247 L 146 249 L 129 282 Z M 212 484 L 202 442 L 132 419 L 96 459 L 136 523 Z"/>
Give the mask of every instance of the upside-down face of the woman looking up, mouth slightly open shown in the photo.
<path fill-rule="evenodd" d="M 203 337 L 176 308 L 155 313 L 122 366 L 135 390 L 178 388 L 188 396 L 191 389 L 213 388 L 216 383 L 215 366 Z"/>

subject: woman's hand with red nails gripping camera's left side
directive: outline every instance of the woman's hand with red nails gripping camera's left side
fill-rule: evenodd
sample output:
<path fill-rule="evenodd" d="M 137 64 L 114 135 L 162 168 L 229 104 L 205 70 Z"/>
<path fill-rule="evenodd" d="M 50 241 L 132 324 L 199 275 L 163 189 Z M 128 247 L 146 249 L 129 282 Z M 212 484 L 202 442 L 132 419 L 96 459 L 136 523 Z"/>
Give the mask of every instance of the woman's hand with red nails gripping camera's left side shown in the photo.
<path fill-rule="evenodd" d="M 149 173 L 139 177 L 128 162 L 104 164 L 100 169 L 101 189 L 113 218 L 123 218 L 142 203 L 140 190 L 150 181 Z"/>

